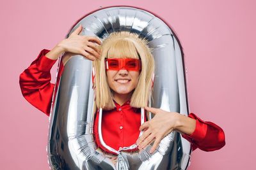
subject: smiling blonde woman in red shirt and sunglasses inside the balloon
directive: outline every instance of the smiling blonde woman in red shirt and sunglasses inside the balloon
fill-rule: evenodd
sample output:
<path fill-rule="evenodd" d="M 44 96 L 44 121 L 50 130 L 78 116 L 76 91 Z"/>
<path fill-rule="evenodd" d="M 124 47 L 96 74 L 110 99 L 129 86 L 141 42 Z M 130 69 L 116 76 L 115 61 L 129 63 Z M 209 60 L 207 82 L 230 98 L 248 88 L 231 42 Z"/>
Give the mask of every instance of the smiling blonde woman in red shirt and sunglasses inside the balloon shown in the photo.
<path fill-rule="evenodd" d="M 152 90 L 154 59 L 145 41 L 124 32 L 112 34 L 101 44 L 97 38 L 80 36 L 81 30 L 80 25 L 51 51 L 42 50 L 31 66 L 20 74 L 20 88 L 29 103 L 49 115 L 54 89 L 54 84 L 50 82 L 52 65 L 63 52 L 69 54 L 61 60 L 57 78 L 59 82 L 70 56 L 74 53 L 81 54 L 93 60 L 96 73 L 95 102 L 97 108 L 104 110 L 102 138 L 111 148 L 122 150 L 125 146 L 136 143 L 140 131 L 144 133 L 137 141 L 139 149 L 156 140 L 150 152 L 154 152 L 161 139 L 171 131 L 181 132 L 182 136 L 192 143 L 193 150 L 198 147 L 205 151 L 212 151 L 225 145 L 223 130 L 212 122 L 204 122 L 193 113 L 185 117 L 179 113 L 147 108 Z M 138 108 L 145 108 L 156 116 L 140 126 Z M 99 113 L 96 114 L 94 125 L 97 145 L 101 150 L 115 154 L 101 145 L 99 134 L 97 134 L 98 121 Z M 138 148 L 127 151 L 135 150 Z"/>

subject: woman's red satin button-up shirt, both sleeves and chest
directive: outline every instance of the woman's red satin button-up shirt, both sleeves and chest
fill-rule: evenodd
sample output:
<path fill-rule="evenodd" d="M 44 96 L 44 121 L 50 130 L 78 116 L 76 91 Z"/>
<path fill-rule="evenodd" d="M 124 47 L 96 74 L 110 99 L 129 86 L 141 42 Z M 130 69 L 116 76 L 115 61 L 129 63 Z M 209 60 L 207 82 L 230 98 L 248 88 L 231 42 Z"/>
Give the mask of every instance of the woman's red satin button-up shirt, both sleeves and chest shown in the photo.
<path fill-rule="evenodd" d="M 24 98 L 49 116 L 54 89 L 54 84 L 51 83 L 50 71 L 56 60 L 45 57 L 47 52 L 49 50 L 42 50 L 31 65 L 20 74 L 19 83 Z M 63 62 L 61 61 L 57 83 L 63 69 Z M 138 139 L 140 134 L 140 109 L 132 108 L 129 101 L 122 106 L 117 103 L 115 105 L 114 110 L 102 113 L 102 138 L 108 146 L 118 150 L 120 147 L 134 144 Z M 221 127 L 212 122 L 201 120 L 194 113 L 189 113 L 188 117 L 196 120 L 196 128 L 191 135 L 182 134 L 182 136 L 191 143 L 193 150 L 200 148 L 204 151 L 213 151 L 225 145 L 225 134 Z M 102 150 L 110 152 L 99 142 L 98 120 L 99 114 L 97 113 L 93 125 L 95 141 Z M 137 148 L 134 150 L 137 150 Z"/>

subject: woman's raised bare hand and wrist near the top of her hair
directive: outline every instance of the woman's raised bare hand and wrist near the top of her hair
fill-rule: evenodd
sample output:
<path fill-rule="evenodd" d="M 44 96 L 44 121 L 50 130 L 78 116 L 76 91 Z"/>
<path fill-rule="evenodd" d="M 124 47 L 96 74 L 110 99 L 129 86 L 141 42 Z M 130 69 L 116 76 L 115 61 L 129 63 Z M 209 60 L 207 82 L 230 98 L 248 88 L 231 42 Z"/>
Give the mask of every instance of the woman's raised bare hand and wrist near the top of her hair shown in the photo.
<path fill-rule="evenodd" d="M 58 45 L 45 56 L 56 60 L 60 57 L 61 53 L 73 53 L 80 54 L 90 60 L 96 60 L 100 57 L 100 45 L 101 41 L 99 38 L 94 36 L 81 36 L 79 33 L 82 31 L 82 25 L 79 25 L 77 29 L 70 34 L 67 39 L 63 39 Z M 68 55 L 70 56 L 70 55 Z M 68 57 L 69 58 L 69 57 Z"/>

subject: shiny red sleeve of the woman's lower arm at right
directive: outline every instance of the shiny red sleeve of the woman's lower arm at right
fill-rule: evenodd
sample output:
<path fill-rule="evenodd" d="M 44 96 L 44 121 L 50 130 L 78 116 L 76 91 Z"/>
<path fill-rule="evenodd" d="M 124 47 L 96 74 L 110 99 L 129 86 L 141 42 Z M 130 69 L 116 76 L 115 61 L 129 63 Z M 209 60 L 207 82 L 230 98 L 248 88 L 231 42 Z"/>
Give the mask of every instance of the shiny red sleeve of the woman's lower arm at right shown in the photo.
<path fill-rule="evenodd" d="M 200 148 L 209 152 L 225 146 L 225 134 L 221 127 L 212 122 L 205 122 L 194 113 L 190 113 L 188 117 L 196 120 L 196 128 L 192 134 L 182 136 L 191 143 L 193 150 Z"/>

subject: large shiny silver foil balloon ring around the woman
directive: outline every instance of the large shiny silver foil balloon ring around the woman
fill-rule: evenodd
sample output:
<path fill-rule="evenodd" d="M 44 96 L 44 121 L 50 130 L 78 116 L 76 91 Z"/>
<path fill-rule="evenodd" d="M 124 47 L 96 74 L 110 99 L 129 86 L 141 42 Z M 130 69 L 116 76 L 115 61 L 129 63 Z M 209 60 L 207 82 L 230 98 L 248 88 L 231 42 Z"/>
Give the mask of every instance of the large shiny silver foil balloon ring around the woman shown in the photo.
<path fill-rule="evenodd" d="M 188 115 L 182 48 L 177 36 L 163 20 L 139 8 L 115 6 L 86 15 L 74 25 L 69 34 L 79 24 L 84 27 L 82 35 L 98 36 L 102 40 L 116 31 L 136 32 L 141 38 L 147 38 L 156 62 L 153 100 L 150 105 Z M 151 145 L 135 153 L 125 152 L 127 148 L 121 148 L 115 151 L 117 157 L 97 149 L 92 129 L 95 114 L 92 61 L 81 55 L 68 60 L 60 78 L 60 85 L 54 90 L 56 97 L 52 97 L 54 100 L 49 119 L 47 146 L 51 169 L 186 169 L 188 167 L 191 146 L 179 132 L 171 132 L 164 137 L 156 152 L 152 154 L 149 153 Z M 100 120 L 99 134 L 101 134 Z M 100 142 L 106 146 L 101 136 Z"/>

